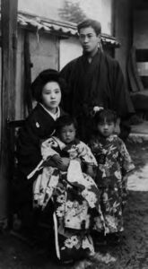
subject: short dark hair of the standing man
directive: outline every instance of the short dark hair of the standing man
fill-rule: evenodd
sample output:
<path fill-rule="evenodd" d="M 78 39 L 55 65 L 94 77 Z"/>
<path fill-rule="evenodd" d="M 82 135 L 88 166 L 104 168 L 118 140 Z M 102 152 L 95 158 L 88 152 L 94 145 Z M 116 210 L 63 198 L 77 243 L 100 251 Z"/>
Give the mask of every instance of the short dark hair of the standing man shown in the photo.
<path fill-rule="evenodd" d="M 101 24 L 100 24 L 100 22 L 95 21 L 95 20 L 91 20 L 91 19 L 84 20 L 83 22 L 80 22 L 77 25 L 78 33 L 80 33 L 81 29 L 88 28 L 88 27 L 91 27 L 95 31 L 97 36 L 101 33 Z"/>

